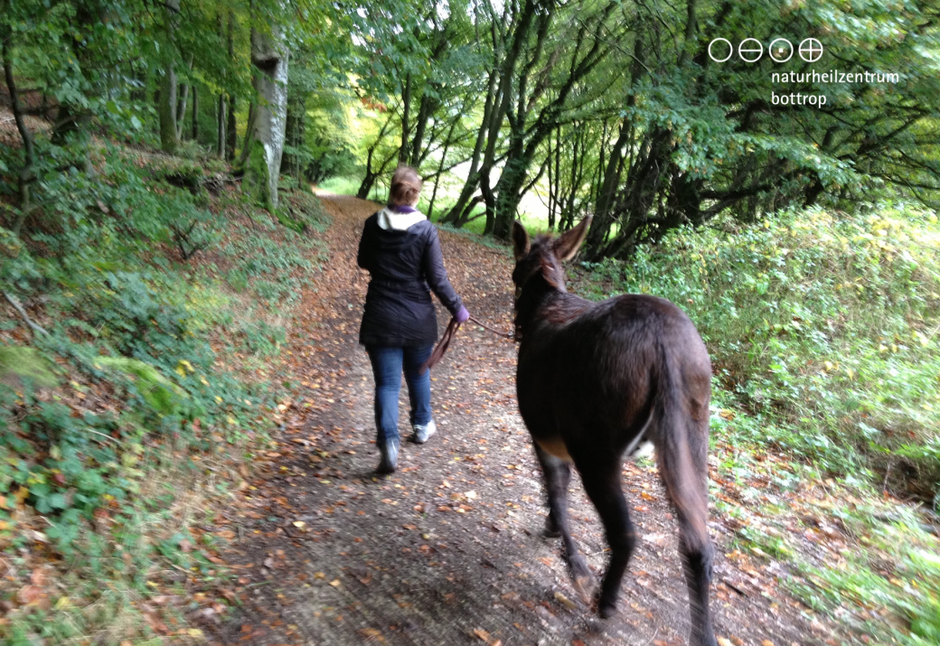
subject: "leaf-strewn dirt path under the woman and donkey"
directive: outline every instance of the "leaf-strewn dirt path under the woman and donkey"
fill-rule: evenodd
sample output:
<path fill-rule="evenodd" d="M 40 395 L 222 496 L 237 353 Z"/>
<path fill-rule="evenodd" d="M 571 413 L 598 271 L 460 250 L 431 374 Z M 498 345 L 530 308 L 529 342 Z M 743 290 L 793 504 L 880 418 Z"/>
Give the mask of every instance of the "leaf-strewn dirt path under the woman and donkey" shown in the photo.
<path fill-rule="evenodd" d="M 223 534 L 230 540 L 223 557 L 241 574 L 234 593 L 243 604 L 227 623 L 207 621 L 211 640 L 684 644 L 675 523 L 650 466 L 624 467 L 642 540 L 619 615 L 594 619 L 572 590 L 559 542 L 541 535 L 540 473 L 516 409 L 509 342 L 462 329 L 433 375 L 439 433 L 423 446 L 403 443 L 399 471 L 374 476 L 371 372 L 357 345 L 368 279 L 355 267 L 355 249 L 375 207 L 340 196 L 324 204 L 334 217 L 331 260 L 305 295 L 291 348 L 304 391 L 283 411 L 277 451 L 261 456 L 258 477 L 225 513 L 239 531 Z M 509 254 L 456 235 L 442 239 L 471 313 L 509 330 Z M 404 429 L 404 389 L 401 420 Z M 601 572 L 603 532 L 579 484 L 571 507 L 576 539 Z M 832 642 L 776 585 L 742 572 L 733 553 L 726 558 L 732 548 L 720 522 L 713 537 L 719 636 L 736 645 Z"/>

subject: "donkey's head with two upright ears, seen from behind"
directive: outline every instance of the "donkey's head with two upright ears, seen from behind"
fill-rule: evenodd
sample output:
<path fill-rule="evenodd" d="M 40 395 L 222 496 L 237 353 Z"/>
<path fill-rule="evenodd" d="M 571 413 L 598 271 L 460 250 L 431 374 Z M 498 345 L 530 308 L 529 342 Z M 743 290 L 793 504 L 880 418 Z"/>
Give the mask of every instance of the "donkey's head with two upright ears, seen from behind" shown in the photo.
<path fill-rule="evenodd" d="M 512 223 L 512 243 L 516 256 L 516 269 L 512 282 L 516 285 L 516 300 L 523 287 L 533 278 L 541 277 L 549 287 L 565 291 L 565 272 L 561 263 L 571 260 L 587 236 L 591 216 L 557 238 L 548 235 L 529 240 L 525 227 L 519 221 Z"/>

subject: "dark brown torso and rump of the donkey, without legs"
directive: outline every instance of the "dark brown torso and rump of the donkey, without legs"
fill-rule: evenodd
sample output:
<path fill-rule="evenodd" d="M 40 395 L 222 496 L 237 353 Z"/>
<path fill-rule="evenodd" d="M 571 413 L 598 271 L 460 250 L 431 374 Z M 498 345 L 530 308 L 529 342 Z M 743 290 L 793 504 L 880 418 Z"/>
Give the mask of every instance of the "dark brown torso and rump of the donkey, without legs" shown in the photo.
<path fill-rule="evenodd" d="M 516 384 L 523 419 L 549 453 L 571 459 L 559 441 L 618 456 L 640 439 L 658 443 L 657 417 L 675 408 L 707 422 L 711 362 L 682 310 L 634 294 L 553 300 L 523 336 Z"/>

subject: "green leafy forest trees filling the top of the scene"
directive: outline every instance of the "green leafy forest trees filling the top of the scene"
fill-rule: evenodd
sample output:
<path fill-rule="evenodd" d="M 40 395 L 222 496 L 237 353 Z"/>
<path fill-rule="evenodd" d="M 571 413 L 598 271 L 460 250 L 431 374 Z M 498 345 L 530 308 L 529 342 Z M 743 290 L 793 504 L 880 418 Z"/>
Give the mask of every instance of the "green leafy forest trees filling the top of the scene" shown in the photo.
<path fill-rule="evenodd" d="M 286 131 L 283 160 L 262 156 L 274 175 L 355 169 L 366 196 L 409 163 L 435 193 L 462 184 L 446 222 L 482 204 L 499 238 L 538 191 L 550 227 L 593 215 L 589 254 L 603 257 L 723 213 L 885 194 L 935 206 L 938 15 L 933 0 L 27 0 L 5 3 L 0 37 L 13 102 L 55 113 L 53 144 L 101 129 L 167 152 L 195 141 L 250 176 L 246 142 L 270 113 Z M 715 38 L 765 54 L 717 62 Z M 776 62 L 778 38 L 816 38 L 822 57 Z M 283 108 L 271 93 L 285 81 L 264 81 L 275 51 Z M 356 115 L 375 125 L 344 141 Z M 27 209 L 46 159 L 33 147 Z"/>

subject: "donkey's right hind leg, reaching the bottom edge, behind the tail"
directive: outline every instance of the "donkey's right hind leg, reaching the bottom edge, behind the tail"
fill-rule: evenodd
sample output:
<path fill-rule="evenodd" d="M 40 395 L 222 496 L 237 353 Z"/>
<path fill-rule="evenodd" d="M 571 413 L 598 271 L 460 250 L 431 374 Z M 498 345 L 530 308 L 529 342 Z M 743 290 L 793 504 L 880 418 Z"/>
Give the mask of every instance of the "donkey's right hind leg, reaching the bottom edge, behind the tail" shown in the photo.
<path fill-rule="evenodd" d="M 691 646 L 715 646 L 709 588 L 714 548 L 708 534 L 708 431 L 688 420 L 688 434 L 663 434 L 656 453 L 666 494 L 679 518 L 679 551 L 692 611 Z M 682 424 L 682 422 L 677 422 Z M 704 427 L 703 427 L 704 426 Z"/>

